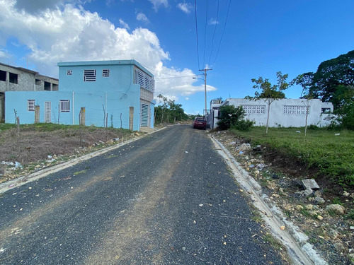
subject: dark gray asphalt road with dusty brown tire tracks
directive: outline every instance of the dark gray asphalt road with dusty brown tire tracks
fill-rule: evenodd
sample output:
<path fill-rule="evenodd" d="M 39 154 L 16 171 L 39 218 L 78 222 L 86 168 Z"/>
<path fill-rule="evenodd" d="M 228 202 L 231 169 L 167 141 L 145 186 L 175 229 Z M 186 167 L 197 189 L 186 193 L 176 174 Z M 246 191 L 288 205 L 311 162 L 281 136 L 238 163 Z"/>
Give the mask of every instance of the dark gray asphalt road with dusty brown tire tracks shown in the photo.
<path fill-rule="evenodd" d="M 282 264 L 191 126 L 11 189 L 0 209 L 0 264 Z"/>

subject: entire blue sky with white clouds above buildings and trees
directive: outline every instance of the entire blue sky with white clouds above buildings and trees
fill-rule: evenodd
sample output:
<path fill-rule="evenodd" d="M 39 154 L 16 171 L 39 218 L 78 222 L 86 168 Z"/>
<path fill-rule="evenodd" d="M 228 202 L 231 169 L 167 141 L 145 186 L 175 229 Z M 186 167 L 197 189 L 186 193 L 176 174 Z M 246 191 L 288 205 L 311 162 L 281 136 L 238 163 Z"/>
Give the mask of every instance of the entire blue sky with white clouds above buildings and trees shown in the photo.
<path fill-rule="evenodd" d="M 57 78 L 59 61 L 135 59 L 155 96 L 188 114 L 204 109 L 202 69 L 209 107 L 254 95 L 251 78 L 291 81 L 354 49 L 353 0 L 0 0 L 0 10 L 0 62 Z"/>

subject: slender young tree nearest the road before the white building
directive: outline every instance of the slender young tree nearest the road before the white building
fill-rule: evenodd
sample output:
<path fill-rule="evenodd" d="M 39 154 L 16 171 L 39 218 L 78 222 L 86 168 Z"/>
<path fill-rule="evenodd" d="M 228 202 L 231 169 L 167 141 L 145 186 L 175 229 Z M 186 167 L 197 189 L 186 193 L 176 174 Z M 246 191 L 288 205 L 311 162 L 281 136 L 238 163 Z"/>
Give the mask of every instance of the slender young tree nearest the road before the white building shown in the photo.
<path fill-rule="evenodd" d="M 268 78 L 263 79 L 263 77 L 259 77 L 258 79 L 252 78 L 251 81 L 256 83 L 253 88 L 260 89 L 261 93 L 256 91 L 254 93 L 254 97 L 247 96 L 249 100 L 264 100 L 265 103 L 268 105 L 268 114 L 267 114 L 267 124 L 265 126 L 265 134 L 268 134 L 268 122 L 269 122 L 269 113 L 270 113 L 270 105 L 275 100 L 280 100 L 285 98 L 285 93 L 283 90 L 286 90 L 290 84 L 286 82 L 287 74 L 282 74 L 281 71 L 277 72 L 277 80 L 278 83 L 273 85 L 269 82 Z"/>

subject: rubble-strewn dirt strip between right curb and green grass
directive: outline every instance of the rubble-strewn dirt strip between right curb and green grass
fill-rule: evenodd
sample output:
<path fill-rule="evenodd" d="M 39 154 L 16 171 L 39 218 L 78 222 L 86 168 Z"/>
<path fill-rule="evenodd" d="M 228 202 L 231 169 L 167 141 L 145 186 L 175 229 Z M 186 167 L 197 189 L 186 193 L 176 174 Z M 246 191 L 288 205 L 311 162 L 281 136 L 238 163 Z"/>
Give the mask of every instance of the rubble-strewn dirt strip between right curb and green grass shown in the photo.
<path fill-rule="evenodd" d="M 214 131 L 212 135 L 256 179 L 286 218 L 309 237 L 309 243 L 329 264 L 354 264 L 353 190 L 344 191 L 329 177 L 320 175 L 316 167 L 268 146 L 252 146 L 228 131 Z M 302 179 L 316 179 L 320 189 L 302 194 Z M 344 214 L 328 210 L 331 204 L 343 206 Z"/>

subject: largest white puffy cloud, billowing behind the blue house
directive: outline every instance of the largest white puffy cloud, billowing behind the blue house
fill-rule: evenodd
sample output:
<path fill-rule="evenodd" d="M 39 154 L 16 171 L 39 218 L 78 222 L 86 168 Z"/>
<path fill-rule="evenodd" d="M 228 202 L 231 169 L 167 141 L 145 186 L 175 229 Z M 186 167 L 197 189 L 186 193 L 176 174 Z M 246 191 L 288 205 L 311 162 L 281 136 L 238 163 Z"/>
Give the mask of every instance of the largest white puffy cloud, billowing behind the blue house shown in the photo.
<path fill-rule="evenodd" d="M 152 69 L 156 95 L 161 93 L 177 99 L 204 91 L 204 86 L 193 86 L 196 80 L 192 79 L 195 75 L 192 70 L 164 66 L 163 61 L 171 60 L 170 54 L 161 48 L 156 34 L 146 28 L 128 33 L 82 6 L 67 4 L 62 9 L 32 14 L 18 11 L 14 4 L 13 0 L 0 0 L 0 55 L 3 57 L 6 41 L 11 37 L 28 49 L 26 57 L 35 65 L 33 70 L 44 75 L 57 77 L 58 61 L 135 59 L 148 70 Z M 208 89 L 216 90 L 211 86 Z"/>

